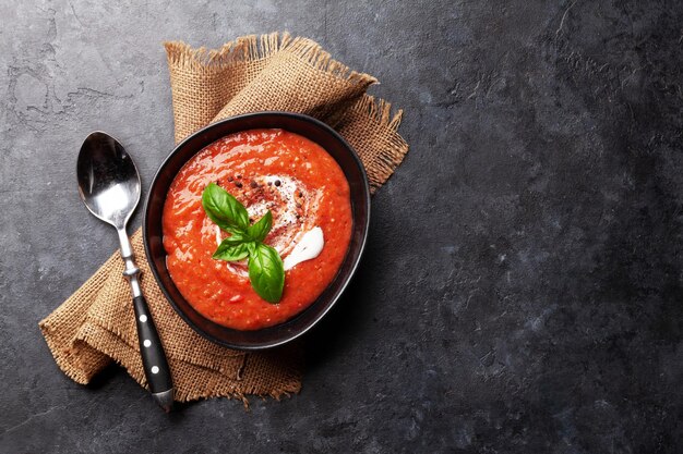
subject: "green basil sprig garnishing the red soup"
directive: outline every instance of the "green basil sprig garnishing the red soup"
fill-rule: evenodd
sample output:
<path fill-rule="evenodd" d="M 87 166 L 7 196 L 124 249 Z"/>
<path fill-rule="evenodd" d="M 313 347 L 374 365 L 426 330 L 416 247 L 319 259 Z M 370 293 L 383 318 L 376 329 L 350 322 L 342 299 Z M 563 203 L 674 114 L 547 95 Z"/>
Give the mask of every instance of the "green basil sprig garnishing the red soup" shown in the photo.
<path fill-rule="evenodd" d="M 285 267 L 277 250 L 263 243 L 273 226 L 268 210 L 254 224 L 242 204 L 216 183 L 209 183 L 202 194 L 206 216 L 221 230 L 230 233 L 218 245 L 213 258 L 237 261 L 249 257 L 249 280 L 259 296 L 278 303 L 285 287 Z"/>

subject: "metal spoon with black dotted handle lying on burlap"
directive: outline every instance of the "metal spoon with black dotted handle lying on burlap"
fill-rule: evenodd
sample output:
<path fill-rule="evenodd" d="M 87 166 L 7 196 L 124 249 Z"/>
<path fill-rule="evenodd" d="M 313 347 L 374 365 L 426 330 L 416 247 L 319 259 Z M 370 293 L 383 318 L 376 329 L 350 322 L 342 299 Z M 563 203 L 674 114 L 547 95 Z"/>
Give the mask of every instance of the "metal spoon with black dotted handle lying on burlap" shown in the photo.
<path fill-rule="evenodd" d="M 125 224 L 140 201 L 140 174 L 135 163 L 121 144 L 106 133 L 92 133 L 79 154 L 76 165 L 79 193 L 85 207 L 97 218 L 113 225 L 119 234 L 121 257 L 125 262 L 123 275 L 131 285 L 137 339 L 142 363 L 154 400 L 169 412 L 173 404 L 173 384 L 164 346 L 142 295 L 140 268 L 135 266 L 133 248 Z"/>

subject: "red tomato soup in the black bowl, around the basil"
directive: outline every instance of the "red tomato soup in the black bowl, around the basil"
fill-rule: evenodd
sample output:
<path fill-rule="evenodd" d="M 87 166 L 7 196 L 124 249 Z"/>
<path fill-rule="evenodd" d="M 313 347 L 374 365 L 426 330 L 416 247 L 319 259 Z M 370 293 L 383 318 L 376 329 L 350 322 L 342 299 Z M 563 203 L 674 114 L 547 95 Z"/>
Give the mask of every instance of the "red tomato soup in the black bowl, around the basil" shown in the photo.
<path fill-rule="evenodd" d="M 242 203 L 254 222 L 271 210 L 273 229 L 264 243 L 285 261 L 307 232 L 322 229 L 322 251 L 285 271 L 279 303 L 267 303 L 251 287 L 247 260 L 212 258 L 229 234 L 202 208 L 211 182 Z M 168 271 L 188 303 L 216 323 L 257 330 L 305 309 L 335 278 L 351 236 L 349 186 L 317 144 L 283 130 L 251 130 L 213 143 L 185 163 L 168 191 L 163 222 Z"/>

